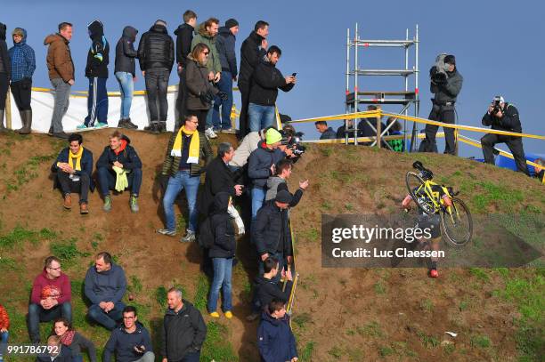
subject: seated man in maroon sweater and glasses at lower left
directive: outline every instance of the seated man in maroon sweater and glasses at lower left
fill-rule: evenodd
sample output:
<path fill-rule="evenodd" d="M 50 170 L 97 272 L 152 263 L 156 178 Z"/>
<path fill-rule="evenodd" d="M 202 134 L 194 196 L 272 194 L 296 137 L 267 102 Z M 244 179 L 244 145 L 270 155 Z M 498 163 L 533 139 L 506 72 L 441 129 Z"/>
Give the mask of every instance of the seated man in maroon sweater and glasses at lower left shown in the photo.
<path fill-rule="evenodd" d="M 72 319 L 72 290 L 61 261 L 55 256 L 45 258 L 44 271 L 34 279 L 28 305 L 28 334 L 32 343 L 40 342 L 40 322 L 56 318 Z"/>

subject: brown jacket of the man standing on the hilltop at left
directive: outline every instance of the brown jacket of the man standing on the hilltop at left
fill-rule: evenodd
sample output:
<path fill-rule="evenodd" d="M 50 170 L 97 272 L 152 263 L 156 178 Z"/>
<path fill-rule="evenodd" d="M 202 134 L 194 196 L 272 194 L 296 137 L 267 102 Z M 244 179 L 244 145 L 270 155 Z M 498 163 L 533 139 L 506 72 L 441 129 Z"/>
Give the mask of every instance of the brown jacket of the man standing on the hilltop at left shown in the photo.
<path fill-rule="evenodd" d="M 70 52 L 69 41 L 61 34 L 52 34 L 45 37 L 44 45 L 47 48 L 47 69 L 49 79 L 62 78 L 64 82 L 76 79 L 74 76 L 74 62 Z"/>

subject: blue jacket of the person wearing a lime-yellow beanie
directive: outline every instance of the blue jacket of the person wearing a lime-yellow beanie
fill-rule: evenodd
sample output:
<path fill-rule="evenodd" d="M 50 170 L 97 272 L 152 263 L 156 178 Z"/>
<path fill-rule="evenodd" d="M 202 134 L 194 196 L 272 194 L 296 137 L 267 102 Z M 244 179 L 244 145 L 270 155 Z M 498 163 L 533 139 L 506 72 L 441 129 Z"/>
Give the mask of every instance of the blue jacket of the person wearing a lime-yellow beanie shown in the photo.
<path fill-rule="evenodd" d="M 248 157 L 248 177 L 252 185 L 264 188 L 267 179 L 272 176 L 271 166 L 276 165 L 286 154 L 281 149 L 267 149 L 264 141 L 259 141 L 257 149 Z"/>

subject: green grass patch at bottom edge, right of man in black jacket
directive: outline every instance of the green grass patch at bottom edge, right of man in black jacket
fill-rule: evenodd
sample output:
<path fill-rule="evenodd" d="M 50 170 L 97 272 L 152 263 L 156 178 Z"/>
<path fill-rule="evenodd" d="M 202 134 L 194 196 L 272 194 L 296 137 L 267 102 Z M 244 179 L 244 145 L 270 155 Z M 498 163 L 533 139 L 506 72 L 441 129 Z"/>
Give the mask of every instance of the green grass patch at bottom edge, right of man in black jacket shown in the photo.
<path fill-rule="evenodd" d="M 239 358 L 229 342 L 229 330 L 221 323 L 210 321 L 207 324 L 207 339 L 200 352 L 201 361 L 238 361 Z"/>

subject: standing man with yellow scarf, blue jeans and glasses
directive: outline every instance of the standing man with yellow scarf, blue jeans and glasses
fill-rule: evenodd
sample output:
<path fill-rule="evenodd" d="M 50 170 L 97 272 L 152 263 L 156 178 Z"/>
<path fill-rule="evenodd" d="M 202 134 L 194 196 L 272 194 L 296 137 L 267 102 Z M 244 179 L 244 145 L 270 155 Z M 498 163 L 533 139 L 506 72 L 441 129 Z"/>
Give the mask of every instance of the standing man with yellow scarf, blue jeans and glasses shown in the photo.
<path fill-rule="evenodd" d="M 168 178 L 163 197 L 167 227 L 159 229 L 158 232 L 169 237 L 176 235 L 174 203 L 178 194 L 185 189 L 189 206 L 189 225 L 182 242 L 195 241 L 199 217 L 197 193 L 199 192 L 200 174 L 205 172 L 207 165 L 213 158 L 207 137 L 197 129 L 199 121 L 196 115 L 190 113 L 185 117 L 183 126 L 177 132 L 172 133 L 161 171 L 162 179 L 166 181 Z"/>

